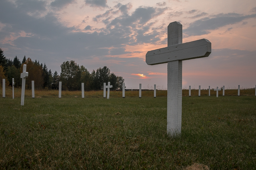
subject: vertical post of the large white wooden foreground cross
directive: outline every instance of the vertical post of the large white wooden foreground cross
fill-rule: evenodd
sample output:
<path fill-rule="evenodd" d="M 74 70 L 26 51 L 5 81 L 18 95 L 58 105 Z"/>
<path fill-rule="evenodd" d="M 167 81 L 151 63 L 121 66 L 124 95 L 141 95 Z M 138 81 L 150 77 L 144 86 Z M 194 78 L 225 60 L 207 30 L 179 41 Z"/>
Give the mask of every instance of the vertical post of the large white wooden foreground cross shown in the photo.
<path fill-rule="evenodd" d="M 168 47 L 182 44 L 182 25 L 172 22 L 168 25 Z M 181 133 L 182 114 L 182 60 L 167 63 L 167 133 Z"/>

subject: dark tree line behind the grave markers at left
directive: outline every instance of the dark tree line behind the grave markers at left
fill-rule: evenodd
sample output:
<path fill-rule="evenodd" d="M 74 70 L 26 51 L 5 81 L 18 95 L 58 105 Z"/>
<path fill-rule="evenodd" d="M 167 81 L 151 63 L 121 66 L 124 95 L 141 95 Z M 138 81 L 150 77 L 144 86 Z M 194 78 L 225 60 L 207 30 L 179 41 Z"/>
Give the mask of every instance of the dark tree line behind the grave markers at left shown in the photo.
<path fill-rule="evenodd" d="M 27 65 L 26 88 L 32 88 L 31 81 L 34 80 L 34 86 L 37 89 L 58 89 L 59 82 L 62 82 L 63 90 L 81 90 L 81 83 L 84 83 L 85 90 L 102 90 L 103 83 L 110 82 L 112 90 L 122 89 L 124 78 L 110 72 L 107 66 L 92 70 L 90 73 L 85 66 L 75 63 L 75 61 L 66 61 L 60 65 L 61 72 L 48 70 L 46 64 L 39 61 L 32 61 L 30 58 L 23 57 L 22 61 L 16 56 L 13 61 L 4 56 L 4 51 L 0 48 L 0 80 L 6 79 L 6 86 L 12 85 L 20 87 L 22 79 L 20 73 L 23 71 L 23 64 Z"/>

